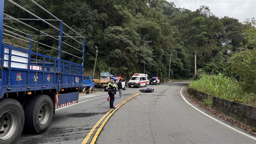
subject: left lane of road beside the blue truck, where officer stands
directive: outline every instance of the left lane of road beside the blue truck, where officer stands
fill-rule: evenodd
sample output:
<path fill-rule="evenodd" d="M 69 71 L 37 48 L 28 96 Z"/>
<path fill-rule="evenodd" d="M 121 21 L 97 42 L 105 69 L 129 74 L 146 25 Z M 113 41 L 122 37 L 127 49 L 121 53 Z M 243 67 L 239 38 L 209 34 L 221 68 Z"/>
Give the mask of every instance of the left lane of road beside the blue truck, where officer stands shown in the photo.
<path fill-rule="evenodd" d="M 146 88 L 155 86 L 149 85 Z M 114 105 L 138 93 L 140 89 L 123 90 L 124 99 L 119 99 L 117 92 Z M 23 132 L 16 144 L 81 144 L 92 127 L 109 111 L 107 98 L 108 92 L 104 91 L 79 95 L 77 104 L 56 110 L 46 132 L 42 134 Z"/>

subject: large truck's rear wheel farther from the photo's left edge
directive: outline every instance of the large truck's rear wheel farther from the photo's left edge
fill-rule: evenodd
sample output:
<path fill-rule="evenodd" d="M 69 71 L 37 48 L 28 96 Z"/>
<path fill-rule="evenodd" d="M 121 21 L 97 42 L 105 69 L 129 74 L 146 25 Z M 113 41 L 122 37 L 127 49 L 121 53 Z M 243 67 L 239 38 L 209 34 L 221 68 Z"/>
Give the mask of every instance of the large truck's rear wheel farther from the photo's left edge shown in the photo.
<path fill-rule="evenodd" d="M 25 128 L 29 132 L 43 133 L 52 122 L 53 103 L 48 95 L 31 98 L 25 108 Z"/>

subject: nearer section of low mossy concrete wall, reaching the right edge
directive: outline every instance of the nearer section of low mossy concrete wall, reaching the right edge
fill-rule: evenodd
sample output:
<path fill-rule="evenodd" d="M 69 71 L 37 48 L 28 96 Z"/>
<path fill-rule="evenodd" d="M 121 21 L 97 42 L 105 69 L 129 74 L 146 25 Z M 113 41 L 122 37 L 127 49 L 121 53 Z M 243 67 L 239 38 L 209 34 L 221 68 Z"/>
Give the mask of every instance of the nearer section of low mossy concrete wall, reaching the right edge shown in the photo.
<path fill-rule="evenodd" d="M 256 128 L 256 107 L 212 97 L 212 107 L 232 119 Z"/>

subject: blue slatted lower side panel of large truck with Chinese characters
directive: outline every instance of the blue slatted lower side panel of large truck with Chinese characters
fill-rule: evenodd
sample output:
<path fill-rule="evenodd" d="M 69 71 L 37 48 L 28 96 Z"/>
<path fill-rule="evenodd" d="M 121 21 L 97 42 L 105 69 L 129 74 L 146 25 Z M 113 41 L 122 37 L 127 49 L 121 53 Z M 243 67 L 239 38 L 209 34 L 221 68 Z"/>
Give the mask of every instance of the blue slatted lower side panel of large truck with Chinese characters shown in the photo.
<path fill-rule="evenodd" d="M 12 68 L 11 62 L 24 64 L 22 62 L 4 60 L 8 61 L 8 68 L 3 69 L 2 77 L 2 97 L 6 92 L 20 92 L 20 91 L 34 91 L 34 90 L 45 90 L 45 89 L 56 89 L 60 91 L 62 88 L 71 87 L 82 87 L 81 76 L 83 75 L 82 69 L 83 65 L 72 63 L 66 60 L 60 60 L 61 63 L 61 73 L 58 73 L 57 62 L 59 59 L 39 54 L 36 52 L 31 52 L 28 50 L 16 48 L 10 45 L 2 44 L 3 48 L 9 49 L 8 57 L 12 56 L 21 57 L 19 55 L 13 55 L 11 50 L 20 51 L 23 53 L 29 53 L 29 56 L 38 55 L 43 57 L 42 62 L 38 60 L 38 63 L 29 63 L 32 66 L 41 67 L 39 70 L 24 69 L 24 68 Z M 45 58 L 51 59 L 54 62 L 45 62 Z M 60 77 L 60 81 L 58 80 Z M 60 85 L 60 89 L 57 89 L 57 85 Z M 2 98 L 1 97 L 1 98 Z"/>

